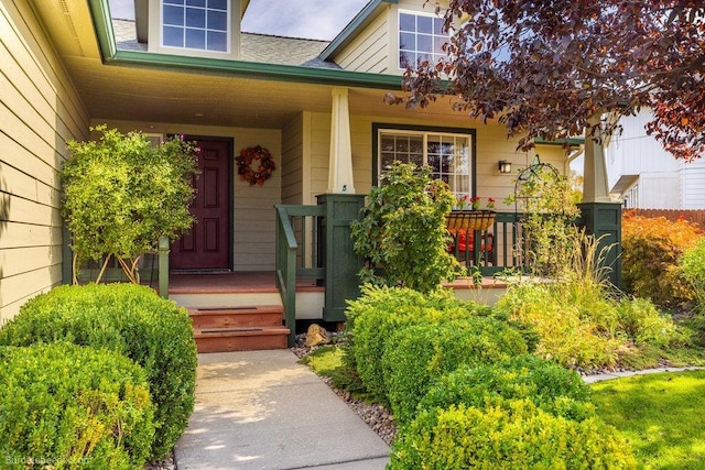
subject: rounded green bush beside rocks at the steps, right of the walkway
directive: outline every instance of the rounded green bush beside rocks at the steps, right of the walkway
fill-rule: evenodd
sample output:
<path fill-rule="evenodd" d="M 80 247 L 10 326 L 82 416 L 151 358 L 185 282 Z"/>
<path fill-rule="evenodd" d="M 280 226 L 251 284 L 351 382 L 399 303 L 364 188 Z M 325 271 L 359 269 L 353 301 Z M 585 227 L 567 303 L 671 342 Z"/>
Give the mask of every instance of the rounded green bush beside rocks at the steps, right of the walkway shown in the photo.
<path fill-rule="evenodd" d="M 469 318 L 489 308 L 462 302 L 446 292 L 422 294 L 410 288 L 365 286 L 362 296 L 350 302 L 346 316 L 348 346 L 360 381 L 376 401 L 387 402 L 382 353 L 389 337 L 400 328 L 442 318 Z"/>

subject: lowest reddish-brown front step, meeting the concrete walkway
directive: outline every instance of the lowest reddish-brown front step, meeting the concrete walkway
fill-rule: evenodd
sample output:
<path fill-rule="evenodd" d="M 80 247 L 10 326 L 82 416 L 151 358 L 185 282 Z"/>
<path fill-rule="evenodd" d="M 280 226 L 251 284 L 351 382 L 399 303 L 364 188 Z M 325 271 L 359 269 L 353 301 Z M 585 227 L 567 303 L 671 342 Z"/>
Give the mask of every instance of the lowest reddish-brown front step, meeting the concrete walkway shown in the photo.
<path fill-rule="evenodd" d="M 286 349 L 289 328 L 215 328 L 196 329 L 194 338 L 198 352 L 228 352 Z"/>

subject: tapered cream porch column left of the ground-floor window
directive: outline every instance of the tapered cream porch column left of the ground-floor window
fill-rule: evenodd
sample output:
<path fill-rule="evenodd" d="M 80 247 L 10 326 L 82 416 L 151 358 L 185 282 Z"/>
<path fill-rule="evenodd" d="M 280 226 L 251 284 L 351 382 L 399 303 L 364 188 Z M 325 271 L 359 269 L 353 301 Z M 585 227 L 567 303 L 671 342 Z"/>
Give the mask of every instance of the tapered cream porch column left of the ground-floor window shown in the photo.
<path fill-rule="evenodd" d="M 328 194 L 355 194 L 348 89 L 333 88 Z"/>

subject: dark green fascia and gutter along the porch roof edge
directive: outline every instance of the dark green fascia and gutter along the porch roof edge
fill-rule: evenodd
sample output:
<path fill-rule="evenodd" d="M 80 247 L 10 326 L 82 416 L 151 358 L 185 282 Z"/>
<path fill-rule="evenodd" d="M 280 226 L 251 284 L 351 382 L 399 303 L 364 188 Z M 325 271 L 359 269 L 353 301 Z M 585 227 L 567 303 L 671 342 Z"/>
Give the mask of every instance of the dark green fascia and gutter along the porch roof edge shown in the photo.
<path fill-rule="evenodd" d="M 373 0 L 390 1 L 390 0 Z M 392 0 L 394 1 L 394 0 Z M 224 61 L 210 57 L 191 57 L 173 54 L 155 54 L 138 51 L 118 51 L 110 20 L 108 0 L 88 0 L 93 23 L 106 65 L 174 68 L 226 73 L 230 76 L 292 81 L 314 85 L 334 85 L 377 89 L 401 89 L 402 77 L 384 74 L 340 70 L 334 68 L 300 67 L 294 65 L 264 64 L 247 61 Z"/>

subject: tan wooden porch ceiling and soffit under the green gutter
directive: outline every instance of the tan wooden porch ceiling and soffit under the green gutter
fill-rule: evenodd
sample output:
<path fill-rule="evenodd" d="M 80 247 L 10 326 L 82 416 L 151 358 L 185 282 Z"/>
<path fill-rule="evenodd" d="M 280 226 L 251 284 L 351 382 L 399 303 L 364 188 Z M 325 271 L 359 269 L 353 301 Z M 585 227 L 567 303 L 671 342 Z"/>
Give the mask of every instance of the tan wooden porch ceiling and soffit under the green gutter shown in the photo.
<path fill-rule="evenodd" d="M 227 72 L 151 65 L 104 64 L 88 2 L 36 2 L 90 117 L 224 127 L 281 129 L 301 111 L 329 112 L 334 85 L 243 78 Z M 384 90 L 350 88 L 351 114 L 379 118 L 423 116 L 471 125 L 447 101 L 424 110 L 386 106 Z"/>

